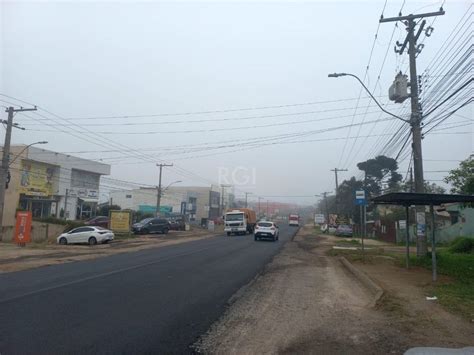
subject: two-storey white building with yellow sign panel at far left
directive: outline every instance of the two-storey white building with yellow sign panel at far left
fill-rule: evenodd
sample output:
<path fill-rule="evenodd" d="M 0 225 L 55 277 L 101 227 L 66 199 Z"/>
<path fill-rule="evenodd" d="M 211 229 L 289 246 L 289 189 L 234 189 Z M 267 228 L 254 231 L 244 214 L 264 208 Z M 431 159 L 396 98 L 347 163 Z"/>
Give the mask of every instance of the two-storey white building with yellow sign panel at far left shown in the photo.
<path fill-rule="evenodd" d="M 102 175 L 110 165 L 14 145 L 10 155 L 10 182 L 5 193 L 4 225 L 15 223 L 17 209 L 33 217 L 85 219 L 95 214 Z"/>

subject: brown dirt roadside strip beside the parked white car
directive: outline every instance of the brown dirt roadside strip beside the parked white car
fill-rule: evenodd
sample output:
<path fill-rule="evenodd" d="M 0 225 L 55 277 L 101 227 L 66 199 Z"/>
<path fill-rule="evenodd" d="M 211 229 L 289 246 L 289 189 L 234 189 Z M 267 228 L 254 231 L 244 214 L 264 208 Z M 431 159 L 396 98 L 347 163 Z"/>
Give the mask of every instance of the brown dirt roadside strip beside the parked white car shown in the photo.
<path fill-rule="evenodd" d="M 186 243 L 213 237 L 216 233 L 218 232 L 195 229 L 185 232 L 170 231 L 166 235 L 132 235 L 130 238 L 117 238 L 111 243 L 94 246 L 31 243 L 20 248 L 13 243 L 0 243 L 0 273 Z"/>

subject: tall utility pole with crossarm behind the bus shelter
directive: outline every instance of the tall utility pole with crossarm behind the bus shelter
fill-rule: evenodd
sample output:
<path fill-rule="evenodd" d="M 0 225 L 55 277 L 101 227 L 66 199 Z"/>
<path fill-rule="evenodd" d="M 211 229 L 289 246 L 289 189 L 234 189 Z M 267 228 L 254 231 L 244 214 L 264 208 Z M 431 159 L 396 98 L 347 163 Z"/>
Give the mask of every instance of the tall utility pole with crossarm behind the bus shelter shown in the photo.
<path fill-rule="evenodd" d="M 405 41 L 396 43 L 395 52 L 402 55 L 405 48 L 408 45 L 408 55 L 410 57 L 410 100 L 411 100 L 411 116 L 410 125 L 412 133 L 412 149 L 413 149 L 413 168 L 415 173 L 415 192 L 424 192 L 424 179 L 423 179 L 423 155 L 421 149 L 421 121 L 423 119 L 420 99 L 418 97 L 418 76 L 416 73 L 416 57 L 423 49 L 423 44 L 417 45 L 417 40 L 426 25 L 426 20 L 421 21 L 418 31 L 415 34 L 415 27 L 417 25 L 416 19 L 440 16 L 444 15 L 445 12 L 441 7 L 437 12 L 429 12 L 424 14 L 410 14 L 407 16 L 391 17 L 391 18 L 380 18 L 380 23 L 383 22 L 396 22 L 402 21 L 407 27 L 407 36 Z M 430 36 L 433 31 L 432 27 L 428 27 L 425 31 L 426 36 Z M 397 49 L 398 47 L 398 49 Z M 424 213 L 424 208 L 417 208 L 417 213 Z M 419 228 L 417 228 L 418 230 Z M 417 235 L 416 250 L 418 256 L 423 256 L 427 252 L 427 236 L 426 233 Z"/>

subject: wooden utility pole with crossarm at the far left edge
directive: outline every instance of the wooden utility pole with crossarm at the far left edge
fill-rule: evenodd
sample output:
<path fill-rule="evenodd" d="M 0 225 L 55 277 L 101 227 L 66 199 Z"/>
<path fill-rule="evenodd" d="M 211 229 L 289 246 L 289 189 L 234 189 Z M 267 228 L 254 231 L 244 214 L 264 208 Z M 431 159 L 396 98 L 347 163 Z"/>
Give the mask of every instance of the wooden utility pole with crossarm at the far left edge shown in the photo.
<path fill-rule="evenodd" d="M 5 110 L 5 112 L 8 113 L 8 119 L 6 122 L 4 122 L 7 124 L 7 131 L 5 133 L 5 144 L 3 145 L 2 166 L 0 167 L 0 240 L 3 239 L 3 211 L 5 209 L 5 189 L 8 176 L 8 163 L 10 160 L 10 143 L 12 139 L 12 128 L 20 128 L 17 125 L 13 124 L 13 115 L 16 112 L 24 111 L 36 111 L 36 106 L 34 108 L 14 108 L 10 106 Z"/>

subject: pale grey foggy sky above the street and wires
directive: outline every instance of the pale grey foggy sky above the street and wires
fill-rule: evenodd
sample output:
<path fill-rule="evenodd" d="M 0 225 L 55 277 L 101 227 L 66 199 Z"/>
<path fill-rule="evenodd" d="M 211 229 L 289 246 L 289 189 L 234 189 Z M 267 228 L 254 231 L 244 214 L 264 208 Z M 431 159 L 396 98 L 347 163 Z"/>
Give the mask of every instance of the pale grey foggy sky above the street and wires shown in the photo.
<path fill-rule="evenodd" d="M 403 13 L 436 11 L 440 3 L 407 1 Z M 397 16 L 401 4 L 401 0 L 389 1 L 385 17 Z M 435 31 L 426 39 L 426 47 L 418 57 L 419 74 L 431 62 L 469 5 L 467 1 L 446 2 L 446 15 L 436 20 Z M 266 146 L 262 144 L 252 150 L 245 150 L 246 143 L 241 141 L 300 134 L 349 125 L 352 120 L 360 123 L 386 117 L 373 102 L 366 109 L 366 99 L 360 101 L 358 115 L 353 116 L 356 105 L 353 99 L 359 96 L 359 84 L 351 78 L 327 77 L 331 72 L 364 76 L 382 6 L 382 1 L 292 4 L 2 2 L 0 92 L 34 103 L 62 118 L 153 115 L 341 100 L 182 116 L 75 119 L 69 126 L 57 117 L 38 111 L 45 117 L 35 114 L 28 115 L 31 118 L 21 114 L 15 117 L 15 122 L 23 124 L 27 130 L 15 130 L 12 141 L 29 144 L 47 140 L 49 144 L 44 148 L 58 152 L 107 150 L 57 130 L 86 132 L 79 135 L 106 146 L 111 145 L 110 141 L 126 146 L 128 153 L 71 153 L 112 164 L 112 178 L 155 185 L 158 174 L 155 161 L 175 163 L 179 167 L 164 170 L 165 183 L 182 180 L 188 186 L 222 182 L 218 181 L 218 173 L 226 169 L 228 172 L 236 168 L 241 172 L 248 169 L 247 176 L 251 178 L 247 179 L 247 186 L 236 187 L 238 196 L 249 191 L 254 199 L 256 196 L 283 195 L 295 197 L 271 199 L 314 203 L 312 197 L 296 196 L 333 191 L 334 174 L 330 169 L 335 167 L 349 169 L 340 173 L 339 181 L 358 176 L 357 162 L 374 157 L 375 144 L 379 143 L 380 150 L 380 144 L 389 138 L 378 135 L 394 133 L 399 124 L 386 121 L 362 126 L 360 130 L 354 127 L 350 134 L 348 128 L 308 134 L 292 139 L 291 144 L 275 144 L 278 138 L 274 138 L 266 141 Z M 389 41 L 393 29 L 393 23 L 380 25 L 366 80 L 375 95 L 383 96 L 380 100 L 384 103 L 388 101 L 388 87 L 397 69 L 405 70 L 408 61 L 407 55 L 393 52 L 394 42 L 404 39 L 405 30 L 400 26 Z M 375 86 L 388 46 L 380 83 Z M 363 93 L 362 97 L 365 96 Z M 5 97 L 0 99 L 21 104 Z M 5 101 L 0 104 L 9 105 Z M 340 110 L 344 108 L 347 110 Z M 400 106 L 391 104 L 387 108 L 400 112 Z M 373 113 L 362 115 L 366 110 Z M 248 118 L 308 111 L 317 112 Z M 459 113 L 472 118 L 470 108 Z M 3 115 L 6 118 L 6 114 Z M 189 122 L 232 118 L 245 119 Z M 312 121 L 299 122 L 306 120 Z M 452 116 L 448 122 L 465 120 Z M 188 123 L 160 124 L 165 121 Z M 150 122 L 155 124 L 147 124 Z M 107 125 L 92 126 L 100 123 Z M 143 124 L 126 126 L 124 123 Z M 267 127 L 251 128 L 260 125 Z M 238 127 L 248 128 L 239 130 Z M 84 128 L 117 133 L 100 133 L 102 138 L 91 138 Z M 233 129 L 219 130 L 228 128 Z M 201 132 L 182 132 L 196 130 Z M 169 133 L 119 134 L 155 131 Z M 181 133 L 171 133 L 176 131 Z M 447 160 L 462 160 L 472 153 L 473 125 L 447 132 L 459 131 L 470 134 L 433 134 L 423 140 L 426 171 L 452 169 L 458 163 Z M 368 134 L 375 136 L 359 138 L 354 145 L 354 140 L 349 139 L 342 154 L 348 135 Z M 235 143 L 236 146 L 178 155 L 160 150 L 213 142 Z M 147 156 L 145 159 L 138 158 L 139 153 L 130 153 L 128 148 L 156 150 L 141 151 L 140 154 Z M 111 145 L 109 149 L 116 148 Z M 201 156 L 230 150 L 234 152 Z M 127 157 L 127 154 L 135 157 Z M 404 176 L 408 161 L 409 157 L 400 164 Z M 446 174 L 426 172 L 425 178 L 439 180 Z M 123 187 L 133 186 L 124 184 Z"/>

